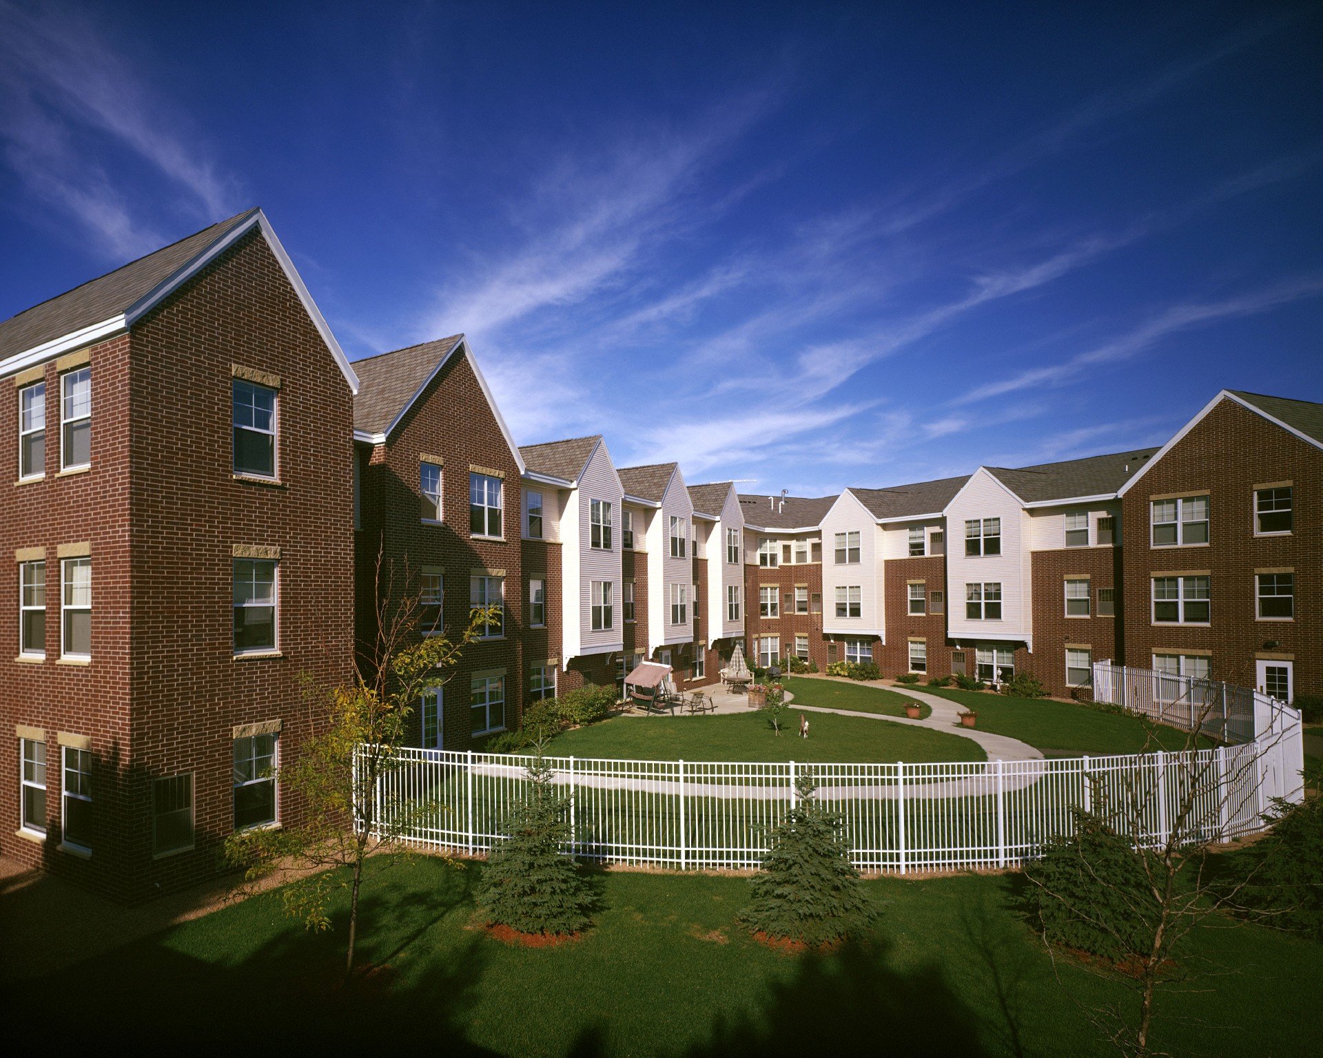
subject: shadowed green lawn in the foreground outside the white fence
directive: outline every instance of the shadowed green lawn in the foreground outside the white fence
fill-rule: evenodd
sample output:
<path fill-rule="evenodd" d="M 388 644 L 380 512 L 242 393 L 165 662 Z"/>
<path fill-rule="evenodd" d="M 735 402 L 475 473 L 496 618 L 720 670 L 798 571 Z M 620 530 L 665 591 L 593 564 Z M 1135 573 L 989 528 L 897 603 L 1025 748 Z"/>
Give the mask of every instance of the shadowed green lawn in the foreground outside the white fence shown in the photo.
<path fill-rule="evenodd" d="M 742 878 L 597 875 L 595 927 L 560 948 L 512 947 L 474 927 L 482 870 L 431 858 L 372 866 L 361 951 L 377 969 L 341 989 L 345 923 L 308 934 L 274 894 L 185 922 L 46 979 L 11 983 L 16 1033 L 105 1042 L 135 1006 L 135 1049 L 426 1049 L 507 1055 L 1114 1054 L 1057 983 L 1090 1005 L 1123 996 L 1068 960 L 1054 972 L 1016 907 L 1016 875 L 867 883 L 867 943 L 794 956 L 734 918 Z M 1191 955 L 1232 976 L 1174 985 L 1154 1045 L 1177 1054 L 1318 1054 L 1323 946 L 1254 926 L 1205 928 Z M 1187 955 L 1181 968 L 1196 967 Z M 12 967 L 11 967 L 12 969 Z M 73 987 L 73 993 L 70 992 Z M 224 1041 L 224 1042 L 222 1042 Z"/>

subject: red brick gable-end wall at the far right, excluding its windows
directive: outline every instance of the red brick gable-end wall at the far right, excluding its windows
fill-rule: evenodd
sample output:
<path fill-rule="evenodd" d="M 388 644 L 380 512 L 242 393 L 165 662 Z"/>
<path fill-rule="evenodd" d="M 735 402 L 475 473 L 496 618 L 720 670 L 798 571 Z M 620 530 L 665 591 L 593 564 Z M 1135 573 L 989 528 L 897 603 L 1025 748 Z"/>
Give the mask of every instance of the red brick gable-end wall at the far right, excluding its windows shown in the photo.
<path fill-rule="evenodd" d="M 1294 532 L 1256 537 L 1256 484 L 1291 481 Z M 1209 544 L 1154 548 L 1150 497 L 1209 497 Z M 1212 652 L 1213 678 L 1256 682 L 1259 652 L 1294 656 L 1295 693 L 1323 693 L 1323 451 L 1230 399 L 1218 403 L 1125 496 L 1125 655 L 1142 668 L 1152 653 Z M 1295 619 L 1256 619 L 1254 570 L 1295 570 Z M 1208 570 L 1208 627 L 1155 626 L 1150 578 L 1164 571 Z M 1266 648 L 1275 640 L 1281 645 Z"/>

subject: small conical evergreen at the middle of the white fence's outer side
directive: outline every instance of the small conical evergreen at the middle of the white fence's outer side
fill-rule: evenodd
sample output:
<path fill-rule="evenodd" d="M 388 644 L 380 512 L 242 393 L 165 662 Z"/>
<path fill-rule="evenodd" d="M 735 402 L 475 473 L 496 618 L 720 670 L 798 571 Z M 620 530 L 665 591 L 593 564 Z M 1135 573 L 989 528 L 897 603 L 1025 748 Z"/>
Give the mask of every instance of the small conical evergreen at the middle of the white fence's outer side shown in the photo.
<path fill-rule="evenodd" d="M 808 771 L 795 780 L 798 797 L 771 831 L 771 850 L 751 879 L 753 901 L 740 914 L 754 932 L 828 944 L 867 926 L 873 909 L 849 862 L 840 816 L 814 799 Z"/>

